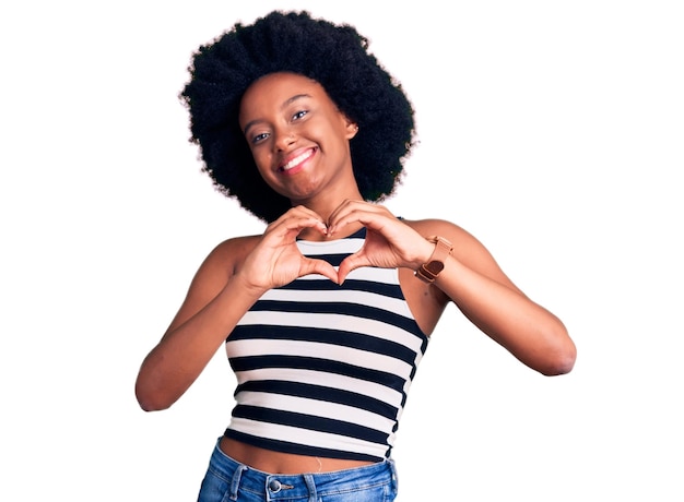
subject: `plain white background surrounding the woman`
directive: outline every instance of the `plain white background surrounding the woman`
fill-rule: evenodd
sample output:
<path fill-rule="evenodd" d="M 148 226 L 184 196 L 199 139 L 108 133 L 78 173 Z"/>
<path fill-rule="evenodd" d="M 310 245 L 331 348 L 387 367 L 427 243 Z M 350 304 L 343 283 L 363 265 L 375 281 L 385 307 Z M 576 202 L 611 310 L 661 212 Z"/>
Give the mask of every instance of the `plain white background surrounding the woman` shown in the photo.
<path fill-rule="evenodd" d="M 262 226 L 200 172 L 177 94 L 200 44 L 293 8 L 355 25 L 415 106 L 387 205 L 473 232 L 579 348 L 544 378 L 450 308 L 399 501 L 684 500 L 679 3 L 3 3 L 0 499 L 194 500 L 224 355 L 169 410 L 133 382 L 205 254 Z"/>

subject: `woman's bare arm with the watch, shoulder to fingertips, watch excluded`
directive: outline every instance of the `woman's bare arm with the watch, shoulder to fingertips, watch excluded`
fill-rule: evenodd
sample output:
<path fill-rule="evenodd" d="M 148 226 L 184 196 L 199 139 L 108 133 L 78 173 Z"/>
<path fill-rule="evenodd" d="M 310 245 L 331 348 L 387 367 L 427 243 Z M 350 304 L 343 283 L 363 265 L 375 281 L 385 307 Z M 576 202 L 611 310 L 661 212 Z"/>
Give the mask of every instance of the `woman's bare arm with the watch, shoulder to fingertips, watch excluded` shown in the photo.
<path fill-rule="evenodd" d="M 349 202 L 333 215 L 334 225 L 361 222 L 368 229 L 362 250 L 340 265 L 340 278 L 364 265 L 417 270 L 429 260 L 435 244 L 425 237 L 439 235 L 453 243 L 437 280 L 426 285 L 406 282 L 417 316 L 432 327 L 448 301 L 452 301 L 481 331 L 508 349 L 524 364 L 546 375 L 571 370 L 576 348 L 565 325 L 550 311 L 529 299 L 504 274 L 494 258 L 473 236 L 445 220 L 401 222 L 386 208 Z M 403 284 L 402 284 L 403 286 Z"/>

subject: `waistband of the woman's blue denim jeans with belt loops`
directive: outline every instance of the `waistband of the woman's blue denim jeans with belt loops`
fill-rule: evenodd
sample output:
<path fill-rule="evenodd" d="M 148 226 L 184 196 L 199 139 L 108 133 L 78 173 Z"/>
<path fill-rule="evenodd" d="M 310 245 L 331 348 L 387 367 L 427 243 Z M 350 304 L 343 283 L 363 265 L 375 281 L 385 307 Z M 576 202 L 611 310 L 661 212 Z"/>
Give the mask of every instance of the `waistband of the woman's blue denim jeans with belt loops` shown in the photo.
<path fill-rule="evenodd" d="M 318 497 L 397 483 L 394 462 L 382 462 L 330 473 L 282 475 L 264 473 L 231 458 L 219 442 L 212 453 L 211 469 L 229 483 L 231 500 L 238 490 L 259 494 L 263 500 L 318 500 Z"/>

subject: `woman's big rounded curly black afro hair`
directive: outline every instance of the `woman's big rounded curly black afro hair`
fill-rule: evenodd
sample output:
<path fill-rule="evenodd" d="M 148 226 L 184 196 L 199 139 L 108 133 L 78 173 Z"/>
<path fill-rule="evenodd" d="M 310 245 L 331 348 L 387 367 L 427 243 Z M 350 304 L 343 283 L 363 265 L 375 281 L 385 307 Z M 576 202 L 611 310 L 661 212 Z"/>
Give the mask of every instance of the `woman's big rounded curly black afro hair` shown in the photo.
<path fill-rule="evenodd" d="M 379 201 L 393 192 L 413 146 L 413 107 L 353 26 L 306 11 L 273 11 L 251 25 L 236 23 L 201 46 L 188 70 L 179 97 L 190 113 L 190 141 L 200 147 L 202 170 L 258 218 L 270 223 L 291 207 L 259 175 L 238 124 L 247 87 L 274 72 L 317 81 L 358 125 L 350 148 L 364 199 Z"/>

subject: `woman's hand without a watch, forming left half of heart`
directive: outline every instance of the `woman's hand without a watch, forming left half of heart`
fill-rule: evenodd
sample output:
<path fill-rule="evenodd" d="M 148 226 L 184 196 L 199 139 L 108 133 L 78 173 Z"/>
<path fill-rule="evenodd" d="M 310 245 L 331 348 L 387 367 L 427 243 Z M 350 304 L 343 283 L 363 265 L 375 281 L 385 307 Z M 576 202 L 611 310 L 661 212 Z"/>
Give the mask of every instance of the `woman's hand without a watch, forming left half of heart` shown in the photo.
<path fill-rule="evenodd" d="M 304 206 L 293 207 L 271 223 L 238 271 L 246 286 L 266 291 L 308 274 L 321 274 L 338 283 L 338 273 L 332 265 L 299 252 L 296 238 L 305 228 L 328 234 L 321 217 Z"/>

